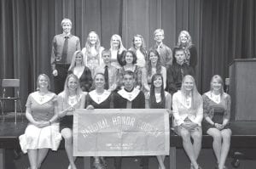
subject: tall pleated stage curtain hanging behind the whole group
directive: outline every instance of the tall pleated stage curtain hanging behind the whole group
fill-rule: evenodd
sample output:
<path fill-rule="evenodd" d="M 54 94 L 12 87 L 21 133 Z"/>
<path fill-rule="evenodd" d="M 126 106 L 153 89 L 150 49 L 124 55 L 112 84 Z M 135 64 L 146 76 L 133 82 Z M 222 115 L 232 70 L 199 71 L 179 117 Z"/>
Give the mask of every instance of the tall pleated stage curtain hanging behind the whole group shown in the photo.
<path fill-rule="evenodd" d="M 73 20 L 82 48 L 90 31 L 105 48 L 113 34 L 130 48 L 135 34 L 152 46 L 154 30 L 162 28 L 164 42 L 173 48 L 178 33 L 188 30 L 198 49 L 201 93 L 212 75 L 229 76 L 233 59 L 256 56 L 254 0 L 1 0 L 0 8 L 0 78 L 20 78 L 23 104 L 38 74 L 51 76 L 51 41 L 62 32 L 64 17 Z"/>

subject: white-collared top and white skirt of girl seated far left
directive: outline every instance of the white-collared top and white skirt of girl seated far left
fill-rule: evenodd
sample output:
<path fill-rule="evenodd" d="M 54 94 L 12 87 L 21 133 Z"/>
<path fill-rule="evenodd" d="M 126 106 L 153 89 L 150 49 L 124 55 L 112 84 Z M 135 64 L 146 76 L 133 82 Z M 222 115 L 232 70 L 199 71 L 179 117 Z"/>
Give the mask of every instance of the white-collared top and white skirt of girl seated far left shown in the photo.
<path fill-rule="evenodd" d="M 47 99 L 39 100 L 38 92 L 31 93 L 26 101 L 26 108 L 31 109 L 35 121 L 49 121 L 56 106 L 56 95 L 50 93 Z M 26 153 L 27 149 L 52 149 L 57 150 L 61 143 L 59 123 L 52 123 L 50 126 L 38 128 L 28 123 L 25 133 L 20 135 L 20 148 Z"/>

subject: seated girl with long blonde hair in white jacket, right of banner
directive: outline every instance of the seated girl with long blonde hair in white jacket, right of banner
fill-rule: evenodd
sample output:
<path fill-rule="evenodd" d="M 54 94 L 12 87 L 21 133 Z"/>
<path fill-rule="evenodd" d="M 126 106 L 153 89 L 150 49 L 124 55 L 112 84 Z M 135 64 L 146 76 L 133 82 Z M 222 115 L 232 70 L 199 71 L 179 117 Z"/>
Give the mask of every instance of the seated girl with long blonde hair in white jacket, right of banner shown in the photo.
<path fill-rule="evenodd" d="M 201 150 L 202 106 L 195 79 L 193 76 L 184 76 L 181 89 L 172 97 L 173 127 L 175 132 L 183 138 L 183 148 L 191 161 L 191 169 L 201 169 L 196 160 Z M 193 144 L 190 138 L 193 138 Z"/>

